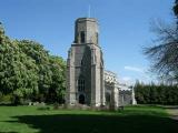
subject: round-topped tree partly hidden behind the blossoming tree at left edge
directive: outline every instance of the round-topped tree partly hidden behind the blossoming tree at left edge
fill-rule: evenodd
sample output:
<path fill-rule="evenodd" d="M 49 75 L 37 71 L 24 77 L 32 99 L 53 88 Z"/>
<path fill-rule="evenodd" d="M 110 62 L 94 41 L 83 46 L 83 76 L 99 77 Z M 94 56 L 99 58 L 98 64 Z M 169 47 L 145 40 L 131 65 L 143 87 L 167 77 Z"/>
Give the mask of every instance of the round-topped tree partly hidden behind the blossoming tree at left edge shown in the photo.
<path fill-rule="evenodd" d="M 38 76 L 36 81 L 38 82 L 37 89 L 41 94 L 40 101 L 44 101 L 44 95 L 49 92 L 51 84 L 51 74 L 49 53 L 43 49 L 41 44 L 34 41 L 21 40 L 16 42 L 19 44 L 22 53 L 28 57 L 28 60 L 33 60 L 36 64 L 36 75 Z M 38 99 L 38 98 L 37 98 Z"/>

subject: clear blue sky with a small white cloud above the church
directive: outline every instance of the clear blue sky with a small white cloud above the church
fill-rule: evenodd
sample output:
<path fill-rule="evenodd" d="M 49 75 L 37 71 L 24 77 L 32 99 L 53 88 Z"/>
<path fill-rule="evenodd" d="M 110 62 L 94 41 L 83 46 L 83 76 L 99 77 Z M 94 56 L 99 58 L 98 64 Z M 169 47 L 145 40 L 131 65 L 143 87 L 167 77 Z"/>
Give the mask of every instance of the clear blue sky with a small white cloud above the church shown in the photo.
<path fill-rule="evenodd" d="M 142 48 L 156 38 L 155 20 L 174 20 L 174 0 L 0 0 L 0 22 L 12 39 L 34 40 L 55 55 L 67 59 L 73 41 L 75 20 L 88 17 L 99 22 L 99 44 L 106 70 L 121 82 L 155 76 Z"/>

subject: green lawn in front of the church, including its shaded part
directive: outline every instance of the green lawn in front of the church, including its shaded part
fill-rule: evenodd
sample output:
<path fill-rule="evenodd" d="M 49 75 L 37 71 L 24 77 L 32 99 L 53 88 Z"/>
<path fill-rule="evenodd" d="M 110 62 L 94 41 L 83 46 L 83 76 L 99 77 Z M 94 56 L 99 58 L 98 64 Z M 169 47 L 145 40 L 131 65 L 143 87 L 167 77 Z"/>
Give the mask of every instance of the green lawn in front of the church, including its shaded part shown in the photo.
<path fill-rule="evenodd" d="M 0 133 L 178 133 L 178 121 L 158 106 L 119 112 L 0 106 Z"/>

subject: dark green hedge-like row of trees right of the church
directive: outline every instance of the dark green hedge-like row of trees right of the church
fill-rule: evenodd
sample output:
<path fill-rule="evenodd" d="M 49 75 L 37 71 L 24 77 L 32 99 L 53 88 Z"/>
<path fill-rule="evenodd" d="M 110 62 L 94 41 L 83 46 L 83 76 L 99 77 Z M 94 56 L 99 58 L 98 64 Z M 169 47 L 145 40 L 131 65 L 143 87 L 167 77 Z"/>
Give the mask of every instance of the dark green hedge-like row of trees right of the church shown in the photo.
<path fill-rule="evenodd" d="M 178 86 L 174 84 L 136 82 L 135 93 L 138 104 L 178 104 Z"/>

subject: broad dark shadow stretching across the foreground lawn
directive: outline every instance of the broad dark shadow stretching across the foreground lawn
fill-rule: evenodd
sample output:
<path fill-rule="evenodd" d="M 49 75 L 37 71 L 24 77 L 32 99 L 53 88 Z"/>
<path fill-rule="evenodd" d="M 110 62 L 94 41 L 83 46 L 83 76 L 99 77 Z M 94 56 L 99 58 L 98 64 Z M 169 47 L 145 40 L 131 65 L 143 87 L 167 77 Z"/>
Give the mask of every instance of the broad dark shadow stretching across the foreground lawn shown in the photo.
<path fill-rule="evenodd" d="M 39 133 L 178 133 L 178 121 L 151 115 L 56 114 L 16 119 L 13 122 L 26 123 Z"/>

